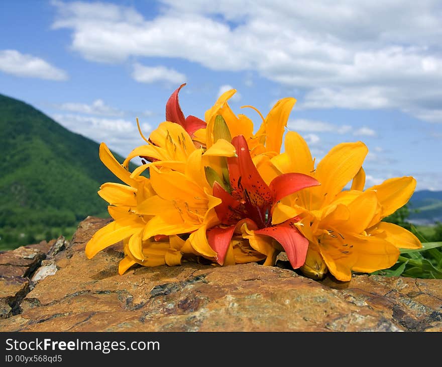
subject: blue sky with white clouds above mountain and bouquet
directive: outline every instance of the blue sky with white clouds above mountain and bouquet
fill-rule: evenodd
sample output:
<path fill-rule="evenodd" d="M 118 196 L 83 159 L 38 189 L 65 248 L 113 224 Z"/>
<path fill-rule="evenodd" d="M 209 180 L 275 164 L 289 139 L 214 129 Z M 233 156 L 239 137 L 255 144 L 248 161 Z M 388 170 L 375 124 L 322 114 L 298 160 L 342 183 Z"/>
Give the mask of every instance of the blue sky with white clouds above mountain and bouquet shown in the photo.
<path fill-rule="evenodd" d="M 235 88 L 256 127 L 241 106 L 294 97 L 288 129 L 317 159 L 361 140 L 367 185 L 442 190 L 440 39 L 438 1 L 2 0 L 0 94 L 122 155 L 144 143 L 136 117 L 148 135 L 182 82 L 186 116 Z"/>

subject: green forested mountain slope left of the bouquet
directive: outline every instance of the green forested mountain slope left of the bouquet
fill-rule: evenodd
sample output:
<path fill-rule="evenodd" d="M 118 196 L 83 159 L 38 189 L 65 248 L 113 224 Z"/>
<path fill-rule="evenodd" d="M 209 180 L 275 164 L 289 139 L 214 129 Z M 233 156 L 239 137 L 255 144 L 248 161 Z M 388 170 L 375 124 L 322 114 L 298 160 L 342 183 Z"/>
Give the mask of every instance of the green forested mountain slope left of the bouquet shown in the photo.
<path fill-rule="evenodd" d="M 99 144 L 3 95 L 0 131 L 0 247 L 41 240 L 39 232 L 60 232 L 88 215 L 106 216 L 99 186 L 121 181 L 99 160 Z"/>

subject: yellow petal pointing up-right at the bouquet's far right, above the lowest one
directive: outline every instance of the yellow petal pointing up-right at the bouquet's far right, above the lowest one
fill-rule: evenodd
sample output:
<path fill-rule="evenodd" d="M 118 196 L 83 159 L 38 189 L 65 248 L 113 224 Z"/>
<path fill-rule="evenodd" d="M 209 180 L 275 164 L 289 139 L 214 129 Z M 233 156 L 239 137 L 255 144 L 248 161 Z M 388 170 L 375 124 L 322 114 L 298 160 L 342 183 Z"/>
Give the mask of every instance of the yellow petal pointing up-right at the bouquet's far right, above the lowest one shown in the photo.
<path fill-rule="evenodd" d="M 410 200 L 415 188 L 416 180 L 414 177 L 405 176 L 389 178 L 382 184 L 372 186 L 366 191 L 376 191 L 379 203 L 382 206 L 381 218 L 385 218 L 404 206 Z"/>

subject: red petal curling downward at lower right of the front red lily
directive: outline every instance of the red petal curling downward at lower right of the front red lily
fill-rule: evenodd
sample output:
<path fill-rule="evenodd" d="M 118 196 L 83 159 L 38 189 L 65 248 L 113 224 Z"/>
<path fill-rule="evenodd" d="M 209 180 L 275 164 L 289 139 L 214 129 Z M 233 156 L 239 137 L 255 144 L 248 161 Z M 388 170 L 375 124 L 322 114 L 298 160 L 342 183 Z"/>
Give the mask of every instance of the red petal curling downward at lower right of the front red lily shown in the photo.
<path fill-rule="evenodd" d="M 264 234 L 277 240 L 290 261 L 294 269 L 302 266 L 307 256 L 308 240 L 292 224 L 293 220 L 288 220 L 276 226 L 267 227 L 255 231 L 257 234 Z"/>

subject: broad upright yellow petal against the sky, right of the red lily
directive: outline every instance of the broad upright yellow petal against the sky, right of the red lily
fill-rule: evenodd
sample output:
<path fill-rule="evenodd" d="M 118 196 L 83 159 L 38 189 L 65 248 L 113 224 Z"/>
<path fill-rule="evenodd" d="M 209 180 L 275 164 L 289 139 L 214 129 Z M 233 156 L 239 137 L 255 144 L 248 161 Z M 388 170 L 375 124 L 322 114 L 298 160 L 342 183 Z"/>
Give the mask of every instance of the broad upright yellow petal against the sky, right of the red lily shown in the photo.
<path fill-rule="evenodd" d="M 332 202 L 335 196 L 355 177 L 367 153 L 367 146 L 360 141 L 341 143 L 321 159 L 315 171 L 315 178 L 321 185 L 314 189 L 322 193 L 324 204 Z"/>

